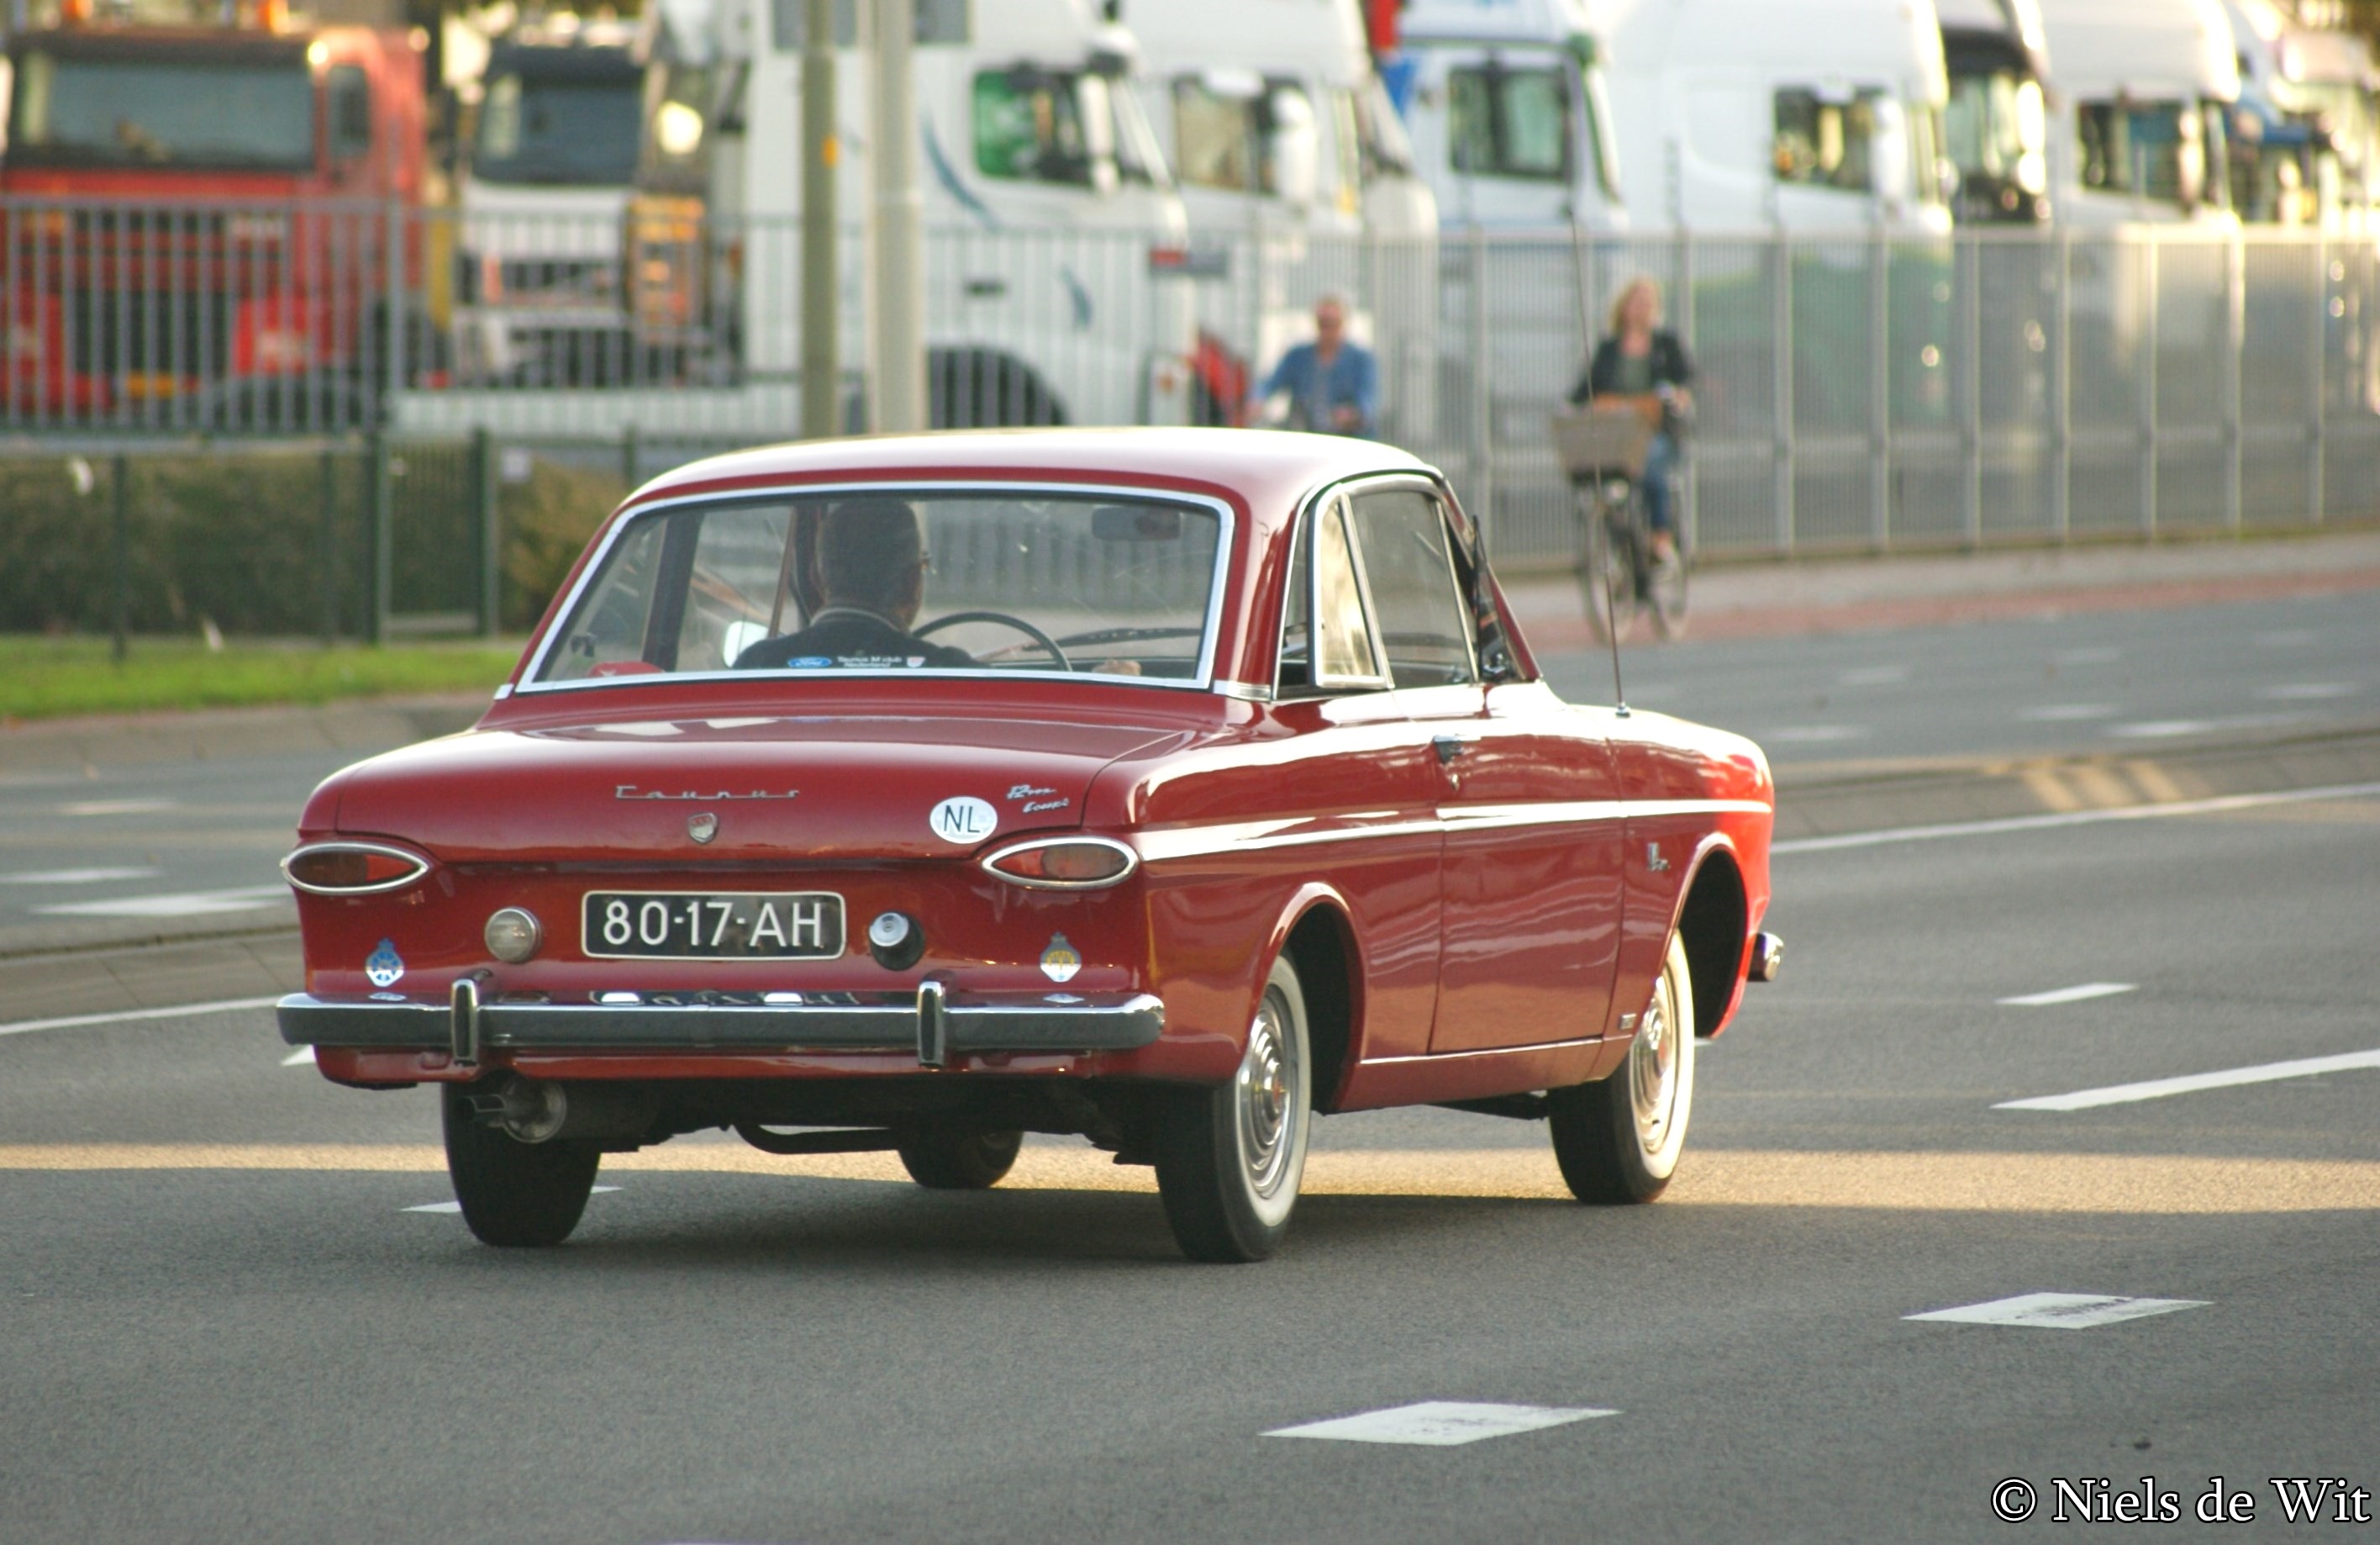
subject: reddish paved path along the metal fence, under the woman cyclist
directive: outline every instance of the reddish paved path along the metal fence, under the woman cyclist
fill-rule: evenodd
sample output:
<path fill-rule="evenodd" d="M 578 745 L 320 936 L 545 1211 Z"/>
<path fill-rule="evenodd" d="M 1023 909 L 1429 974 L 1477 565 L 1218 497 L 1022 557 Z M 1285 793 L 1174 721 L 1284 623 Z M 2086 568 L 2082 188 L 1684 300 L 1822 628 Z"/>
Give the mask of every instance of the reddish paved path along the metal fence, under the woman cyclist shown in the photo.
<path fill-rule="evenodd" d="M 2380 590 L 2380 531 L 1723 564 L 1692 574 L 1687 636 L 1783 638 L 2340 590 Z M 1504 593 L 1540 655 L 1597 648 L 1568 574 L 1526 574 Z M 1649 638 L 1642 621 L 1637 638 Z"/>

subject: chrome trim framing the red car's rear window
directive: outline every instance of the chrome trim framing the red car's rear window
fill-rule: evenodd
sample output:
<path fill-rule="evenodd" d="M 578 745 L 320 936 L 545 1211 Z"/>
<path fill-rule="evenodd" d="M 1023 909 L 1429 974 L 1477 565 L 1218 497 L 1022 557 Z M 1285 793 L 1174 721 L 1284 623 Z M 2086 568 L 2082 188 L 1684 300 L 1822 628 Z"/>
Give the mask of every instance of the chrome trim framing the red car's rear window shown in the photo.
<path fill-rule="evenodd" d="M 1190 678 L 1171 678 L 1171 676 L 1102 676 L 1097 671 L 933 671 L 933 669 L 916 669 L 916 671 L 909 671 L 909 669 L 902 669 L 902 671 L 890 671 L 890 669 L 878 669 L 878 671 L 871 671 L 871 669 L 835 669 L 835 671 L 795 671 L 795 669 L 783 669 L 783 671 L 733 671 L 733 669 L 728 669 L 728 671 L 654 671 L 654 674 L 635 674 L 635 676 L 588 676 L 588 678 L 581 678 L 581 681 L 538 681 L 538 674 L 545 669 L 545 664 L 552 657 L 555 648 L 562 643 L 562 636 L 566 633 L 571 617 L 576 617 L 578 602 L 585 600 L 588 588 L 595 583 L 595 578 L 605 571 L 605 564 L 612 559 L 612 550 L 621 543 L 621 538 L 633 526 L 640 526 L 645 519 L 650 519 L 650 517 L 654 517 L 654 514 L 659 514 L 664 509 L 681 509 L 681 507 L 688 507 L 688 505 L 759 505 L 759 502 L 776 502 L 776 500 L 840 498 L 840 495 L 857 495 L 857 493 L 878 493 L 878 495 L 883 495 L 883 493 L 890 493 L 890 495 L 902 495 L 902 493 L 907 493 L 907 495 L 971 495 L 973 493 L 973 495 L 1019 495 L 1019 498 L 1031 498 L 1031 495 L 1088 495 L 1088 498 L 1111 498 L 1111 500 L 1188 505 L 1188 507 L 1195 507 L 1195 509 L 1211 512 L 1216 517 L 1216 521 L 1221 521 L 1221 528 L 1219 528 L 1219 536 L 1216 536 L 1214 574 L 1207 578 L 1207 612 L 1204 612 L 1202 626 L 1200 626 L 1202 636 L 1200 636 L 1197 671 Z M 538 638 L 538 648 L 531 652 L 528 667 L 521 669 L 519 683 L 512 688 L 512 695 L 514 698 L 531 698 L 531 695 L 545 695 L 545 693 L 581 693 L 581 690 L 602 690 L 602 688 L 621 688 L 621 686 L 635 688 L 635 686 L 659 686 L 664 681 L 916 681 L 916 678 L 940 678 L 940 681 L 1078 681 L 1078 683 L 1081 681 L 1095 681 L 1100 686 L 1154 686 L 1154 688 L 1171 688 L 1171 690 L 1211 693 L 1211 690 L 1216 690 L 1216 659 L 1219 659 L 1221 643 L 1223 643 L 1221 636 L 1219 636 L 1221 628 L 1223 628 L 1223 595 L 1226 595 L 1230 576 L 1235 574 L 1235 567 L 1238 567 L 1238 550 L 1235 550 L 1238 540 L 1240 540 L 1240 521 L 1238 521 L 1233 507 L 1228 502 L 1214 498 L 1214 495 L 1207 495 L 1207 493 L 1185 493 L 1185 490 L 1173 490 L 1173 488 L 1164 488 L 1164 490 L 1159 490 L 1159 488 L 1121 488 L 1121 486 L 1114 486 L 1114 483 L 1047 483 L 1047 481 L 1007 483 L 1007 481 L 983 481 L 983 478 L 935 483 L 935 481 L 916 481 L 916 478 L 904 478 L 904 481 L 871 478 L 871 481 L 854 481 L 854 483 L 783 483 L 783 486 L 776 486 L 776 488 L 740 488 L 735 493 L 683 493 L 683 495 L 676 495 L 676 498 L 647 500 L 647 502 L 635 505 L 633 509 L 624 512 L 619 519 L 614 519 L 612 528 L 605 531 L 602 545 L 593 555 L 588 555 L 588 562 L 578 569 L 578 578 L 571 583 L 569 595 L 555 609 L 555 624 L 552 624 L 552 628 L 547 628 L 547 633 L 543 638 Z"/>

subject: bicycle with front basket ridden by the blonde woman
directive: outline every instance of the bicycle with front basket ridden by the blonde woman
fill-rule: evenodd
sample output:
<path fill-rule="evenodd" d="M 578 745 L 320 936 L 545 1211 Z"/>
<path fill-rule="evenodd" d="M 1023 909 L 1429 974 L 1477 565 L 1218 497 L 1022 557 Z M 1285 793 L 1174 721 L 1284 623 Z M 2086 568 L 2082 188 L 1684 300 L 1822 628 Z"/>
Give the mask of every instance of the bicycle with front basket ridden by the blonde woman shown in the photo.
<path fill-rule="evenodd" d="M 1637 612 L 1654 633 L 1685 633 L 1685 552 L 1654 552 L 1645 509 L 1645 450 L 1661 421 L 1656 398 L 1604 398 L 1554 414 L 1554 450 L 1578 502 L 1578 593 L 1599 643 L 1626 638 Z"/>

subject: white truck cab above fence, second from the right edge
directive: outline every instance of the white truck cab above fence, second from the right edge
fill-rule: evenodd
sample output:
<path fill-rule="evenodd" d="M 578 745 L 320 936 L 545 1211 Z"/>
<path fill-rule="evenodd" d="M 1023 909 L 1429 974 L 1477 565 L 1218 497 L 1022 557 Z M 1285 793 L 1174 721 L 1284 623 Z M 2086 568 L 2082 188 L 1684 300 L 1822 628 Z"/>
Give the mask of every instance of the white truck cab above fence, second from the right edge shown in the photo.
<path fill-rule="evenodd" d="M 2054 217 L 2237 226 L 2223 167 L 2240 60 L 2221 0 L 2042 0 L 2042 31 Z"/>

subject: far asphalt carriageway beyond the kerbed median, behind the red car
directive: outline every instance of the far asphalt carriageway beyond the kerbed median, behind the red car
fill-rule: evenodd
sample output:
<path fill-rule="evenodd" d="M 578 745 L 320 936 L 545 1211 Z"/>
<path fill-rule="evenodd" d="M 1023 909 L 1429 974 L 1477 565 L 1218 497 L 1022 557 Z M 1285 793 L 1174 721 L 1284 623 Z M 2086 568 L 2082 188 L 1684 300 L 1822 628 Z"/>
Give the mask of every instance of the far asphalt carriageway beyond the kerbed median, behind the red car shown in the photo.
<path fill-rule="evenodd" d="M 1609 702 L 1597 652 L 1545 659 Z M 1630 645 L 1628 700 L 1752 733 L 1778 767 L 2013 757 L 2380 724 L 2370 593 L 1804 638 Z M 0 955 L 290 919 L 274 864 L 321 750 L 0 771 Z"/>

